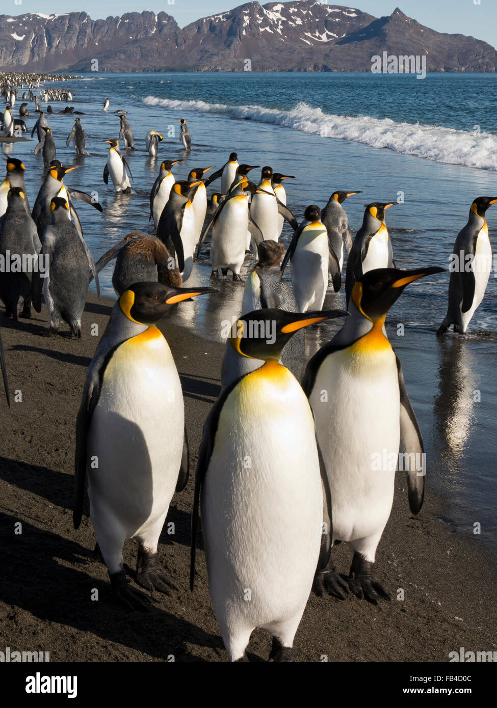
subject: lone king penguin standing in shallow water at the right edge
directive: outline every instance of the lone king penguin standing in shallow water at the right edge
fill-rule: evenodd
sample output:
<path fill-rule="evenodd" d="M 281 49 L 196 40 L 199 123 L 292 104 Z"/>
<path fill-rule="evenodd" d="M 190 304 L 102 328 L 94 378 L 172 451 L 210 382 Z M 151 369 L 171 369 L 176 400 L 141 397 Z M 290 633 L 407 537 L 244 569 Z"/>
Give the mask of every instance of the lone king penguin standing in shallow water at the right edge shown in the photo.
<path fill-rule="evenodd" d="M 457 234 L 450 266 L 449 307 L 437 331 L 439 335 L 445 334 L 451 324 L 454 332 L 466 334 L 471 317 L 484 299 L 492 268 L 485 213 L 496 202 L 496 197 L 475 199 L 466 226 Z"/>

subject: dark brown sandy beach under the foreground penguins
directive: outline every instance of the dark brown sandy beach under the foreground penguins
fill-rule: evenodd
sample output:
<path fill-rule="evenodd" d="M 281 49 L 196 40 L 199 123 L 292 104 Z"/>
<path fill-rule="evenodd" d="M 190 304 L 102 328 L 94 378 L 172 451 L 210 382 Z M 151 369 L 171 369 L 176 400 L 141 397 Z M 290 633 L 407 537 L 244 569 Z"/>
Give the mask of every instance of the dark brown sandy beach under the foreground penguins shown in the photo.
<path fill-rule="evenodd" d="M 12 399 L 1 406 L 0 649 L 50 651 L 50 661 L 225 661 L 208 595 L 203 551 L 196 590 L 189 591 L 189 516 L 193 475 L 173 498 L 160 561 L 179 592 L 155 593 L 155 609 L 128 614 L 113 604 L 106 568 L 93 561 L 91 522 L 72 526 L 74 423 L 86 367 L 103 333 L 111 301 L 89 296 L 80 341 L 46 338 L 47 313 L 14 323 L 0 315 Z M 179 306 L 181 307 L 181 306 Z M 191 466 L 203 421 L 220 389 L 223 347 L 186 329 L 161 324 L 177 362 L 186 410 Z M 201 372 L 201 375 L 199 375 Z M 19 398 L 19 395 L 17 394 Z M 417 518 L 408 511 L 403 476 L 376 556 L 376 577 L 393 600 L 374 607 L 311 595 L 295 641 L 298 661 L 448 661 L 450 651 L 497 649 L 495 572 L 491 556 L 437 517 L 442 503 L 430 491 Z M 22 534 L 14 533 L 16 522 Z M 165 529 L 166 527 L 164 527 Z M 135 544 L 125 562 L 134 568 Z M 335 562 L 348 570 L 345 544 Z M 284 578 L 281 578 L 284 586 Z M 91 600 L 91 590 L 99 600 Z M 405 599 L 396 600 L 403 588 Z M 3 645 L 3 646 L 2 646 Z M 265 661 L 270 639 L 256 631 L 251 661 Z"/>

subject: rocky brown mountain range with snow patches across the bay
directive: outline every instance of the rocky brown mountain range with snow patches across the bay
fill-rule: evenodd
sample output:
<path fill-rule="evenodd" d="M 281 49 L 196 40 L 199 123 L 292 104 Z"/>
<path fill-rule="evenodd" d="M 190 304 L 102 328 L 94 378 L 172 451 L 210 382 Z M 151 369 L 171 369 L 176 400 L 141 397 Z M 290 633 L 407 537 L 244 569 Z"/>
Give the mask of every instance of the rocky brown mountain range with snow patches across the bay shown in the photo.
<path fill-rule="evenodd" d="M 249 2 L 183 29 L 164 12 L 105 20 L 84 12 L 0 15 L 4 71 L 369 72 L 372 57 L 383 52 L 425 55 L 428 72 L 497 67 L 487 42 L 435 32 L 399 8 L 375 18 L 314 0 Z"/>

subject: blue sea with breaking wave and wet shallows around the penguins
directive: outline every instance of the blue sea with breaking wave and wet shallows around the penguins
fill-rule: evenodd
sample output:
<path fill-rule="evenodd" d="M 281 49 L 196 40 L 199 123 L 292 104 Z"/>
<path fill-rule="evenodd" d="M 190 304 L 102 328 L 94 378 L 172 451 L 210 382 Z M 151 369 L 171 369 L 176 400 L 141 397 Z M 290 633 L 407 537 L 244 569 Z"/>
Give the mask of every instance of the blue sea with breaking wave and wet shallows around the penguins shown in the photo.
<path fill-rule="evenodd" d="M 497 196 L 496 81 L 496 74 L 428 74 L 423 80 L 372 74 L 86 74 L 71 86 L 74 107 L 84 113 L 89 155 L 77 157 L 72 146 L 65 146 L 74 118 L 52 114 L 48 121 L 59 159 L 79 166 L 67 175 L 67 185 L 95 191 L 104 207 L 100 214 L 77 206 L 95 260 L 130 230 L 150 230 L 148 198 L 162 159 L 184 159 L 174 169 L 181 179 L 194 167 L 221 166 L 235 151 L 240 162 L 269 164 L 296 176 L 285 187 L 298 219 L 308 204 L 323 206 L 334 190 L 362 190 L 345 202 L 354 232 L 364 204 L 401 196 L 403 203 L 386 214 L 396 264 L 448 267 L 472 200 Z M 103 113 L 107 97 L 109 113 Z M 54 110 L 63 107 L 52 103 Z M 126 155 L 134 176 L 132 195 L 115 195 L 102 179 L 108 146 L 101 141 L 118 137 L 119 119 L 111 113 L 118 109 L 128 111 L 135 135 L 135 152 Z M 177 118 L 186 118 L 191 130 L 190 154 L 179 144 Z M 26 120 L 29 131 L 34 120 Z M 174 137 L 167 137 L 169 126 Z M 152 129 L 164 135 L 159 159 L 145 152 L 145 135 Z M 0 148 L 23 159 L 31 204 L 43 178 L 43 161 L 33 155 L 34 147 L 35 141 Z M 215 191 L 218 183 L 212 187 Z M 497 207 L 487 219 L 495 244 Z M 285 227 L 286 244 L 289 236 Z M 247 258 L 242 277 L 252 263 Z M 210 271 L 206 249 L 188 285 L 207 285 Z M 111 275 L 111 266 L 101 273 L 107 295 L 113 295 Z M 425 438 L 428 489 L 442 493 L 445 516 L 457 530 L 470 534 L 477 521 L 481 538 L 491 544 L 497 530 L 493 275 L 467 341 L 435 337 L 447 309 L 447 273 L 408 287 L 387 319 Z M 242 286 L 222 281 L 218 287 L 219 295 L 184 303 L 172 319 L 220 341 L 222 321 L 240 312 Z M 330 293 L 325 302 L 344 304 L 342 292 Z M 405 326 L 405 336 L 397 336 L 397 324 Z M 335 321 L 309 332 L 307 354 L 328 341 L 337 326 Z"/>

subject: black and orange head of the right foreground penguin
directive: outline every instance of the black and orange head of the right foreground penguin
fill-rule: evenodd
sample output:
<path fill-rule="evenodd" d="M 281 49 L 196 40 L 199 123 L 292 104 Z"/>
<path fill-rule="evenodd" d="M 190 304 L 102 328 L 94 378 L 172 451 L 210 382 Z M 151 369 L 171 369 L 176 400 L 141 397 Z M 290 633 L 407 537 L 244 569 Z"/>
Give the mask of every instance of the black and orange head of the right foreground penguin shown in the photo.
<path fill-rule="evenodd" d="M 372 322 L 382 320 L 403 293 L 406 285 L 426 275 L 443 273 L 446 269 L 426 266 L 413 270 L 400 268 L 376 268 L 364 273 L 352 288 L 351 298 L 359 312 Z"/>

